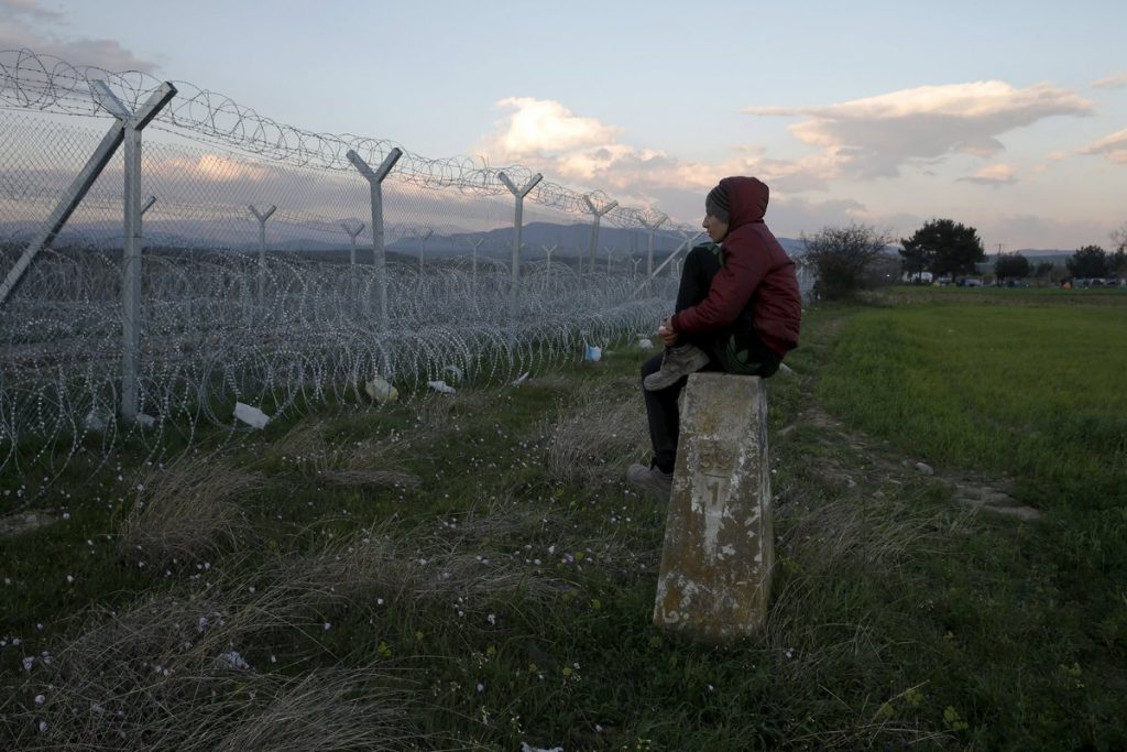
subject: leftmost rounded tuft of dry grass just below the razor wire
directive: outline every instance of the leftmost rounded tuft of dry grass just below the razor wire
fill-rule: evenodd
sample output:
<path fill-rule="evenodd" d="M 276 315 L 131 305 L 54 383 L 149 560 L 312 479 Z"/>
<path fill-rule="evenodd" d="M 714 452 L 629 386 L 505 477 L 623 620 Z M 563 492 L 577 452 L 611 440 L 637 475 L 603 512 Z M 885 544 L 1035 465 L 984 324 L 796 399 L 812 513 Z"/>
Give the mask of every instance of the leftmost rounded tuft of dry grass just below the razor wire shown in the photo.
<path fill-rule="evenodd" d="M 159 566 L 234 548 L 252 534 L 241 502 L 264 485 L 260 475 L 216 460 L 185 458 L 153 470 L 137 484 L 122 554 Z"/>

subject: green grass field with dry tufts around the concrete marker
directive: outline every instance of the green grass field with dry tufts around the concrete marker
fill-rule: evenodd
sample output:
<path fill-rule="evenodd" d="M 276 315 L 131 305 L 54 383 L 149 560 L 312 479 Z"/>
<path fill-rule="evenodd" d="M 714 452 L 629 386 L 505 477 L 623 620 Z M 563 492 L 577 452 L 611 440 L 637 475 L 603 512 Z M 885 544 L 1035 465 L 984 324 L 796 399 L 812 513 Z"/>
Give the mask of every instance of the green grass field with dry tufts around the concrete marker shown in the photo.
<path fill-rule="evenodd" d="M 1057 292 L 808 312 L 771 618 L 726 648 L 650 626 L 641 351 L 79 457 L 0 546 L 0 749 L 1124 749 L 1127 297 Z"/>

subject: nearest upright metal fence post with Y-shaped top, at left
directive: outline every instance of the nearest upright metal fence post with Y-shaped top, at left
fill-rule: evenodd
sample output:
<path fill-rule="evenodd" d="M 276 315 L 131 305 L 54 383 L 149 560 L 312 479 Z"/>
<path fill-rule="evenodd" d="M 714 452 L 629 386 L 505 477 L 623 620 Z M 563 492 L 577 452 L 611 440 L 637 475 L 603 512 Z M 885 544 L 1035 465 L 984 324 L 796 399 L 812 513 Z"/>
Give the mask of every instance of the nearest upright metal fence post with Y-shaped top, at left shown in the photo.
<path fill-rule="evenodd" d="M 125 242 L 122 249 L 122 419 L 136 421 L 141 379 L 141 131 L 176 96 L 165 83 L 134 113 L 105 81 L 94 81 L 94 94 L 122 127 L 124 163 Z M 149 204 L 152 205 L 151 203 Z"/>

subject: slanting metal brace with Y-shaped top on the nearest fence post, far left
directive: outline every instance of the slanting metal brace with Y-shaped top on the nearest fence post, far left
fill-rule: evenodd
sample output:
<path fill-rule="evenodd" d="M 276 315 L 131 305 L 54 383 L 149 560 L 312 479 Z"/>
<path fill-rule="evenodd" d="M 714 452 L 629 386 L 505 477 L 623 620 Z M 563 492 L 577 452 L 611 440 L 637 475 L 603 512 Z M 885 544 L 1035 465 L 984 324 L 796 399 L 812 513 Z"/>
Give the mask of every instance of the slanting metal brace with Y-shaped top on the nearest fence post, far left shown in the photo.
<path fill-rule="evenodd" d="M 55 236 L 66 224 L 66 220 L 74 213 L 78 205 L 82 203 L 82 198 L 90 191 L 90 186 L 94 185 L 94 182 L 101 175 L 101 170 L 113 159 L 117 147 L 122 145 L 122 142 L 125 140 L 126 130 L 132 129 L 140 132 L 176 96 L 176 87 L 166 81 L 153 91 L 149 99 L 134 114 L 130 113 L 125 105 L 109 92 L 109 88 L 103 81 L 94 81 L 92 86 L 98 104 L 113 115 L 116 122 L 109 127 L 106 135 L 103 136 L 101 142 L 98 143 L 94 153 L 90 154 L 90 159 L 86 161 L 86 165 L 82 166 L 74 180 L 63 193 L 62 198 L 59 200 L 54 210 L 47 215 L 47 220 L 44 222 L 39 235 L 32 239 L 32 242 L 24 249 L 24 253 L 20 254 L 20 257 L 12 265 L 11 269 L 8 271 L 3 283 L 0 284 L 0 306 L 7 302 L 8 297 L 19 284 L 19 281 L 24 277 L 24 273 L 27 272 L 27 267 L 32 265 L 38 253 L 51 245 Z M 109 95 L 108 99 L 104 98 L 103 90 Z M 131 120 L 133 121 L 132 125 L 130 124 Z M 140 191 L 140 187 L 137 191 Z"/>

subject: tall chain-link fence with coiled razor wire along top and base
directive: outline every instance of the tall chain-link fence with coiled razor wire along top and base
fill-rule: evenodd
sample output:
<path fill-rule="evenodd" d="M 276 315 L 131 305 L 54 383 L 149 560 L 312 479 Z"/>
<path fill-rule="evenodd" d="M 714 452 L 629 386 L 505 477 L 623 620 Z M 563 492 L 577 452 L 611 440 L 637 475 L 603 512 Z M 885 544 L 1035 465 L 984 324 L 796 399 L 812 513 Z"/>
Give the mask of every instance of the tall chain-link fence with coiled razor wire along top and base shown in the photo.
<path fill-rule="evenodd" d="M 127 107 L 159 83 L 0 52 L 0 277 L 115 126 L 94 80 Z M 277 416 L 379 405 L 383 382 L 405 397 L 505 384 L 648 331 L 669 307 L 676 271 L 647 276 L 650 233 L 659 258 L 695 233 L 654 231 L 654 210 L 615 207 L 596 240 L 584 194 L 541 182 L 514 274 L 502 170 L 405 152 L 374 216 L 344 156 L 379 165 L 387 142 L 309 134 L 177 87 L 142 141 L 135 419 L 118 417 L 130 368 L 118 150 L 0 303 L 0 471 L 48 481 L 83 449 L 108 460 L 126 441 L 157 454 L 205 426 L 234 436 L 248 430 L 240 402 Z M 504 172 L 518 186 L 533 177 Z"/>

